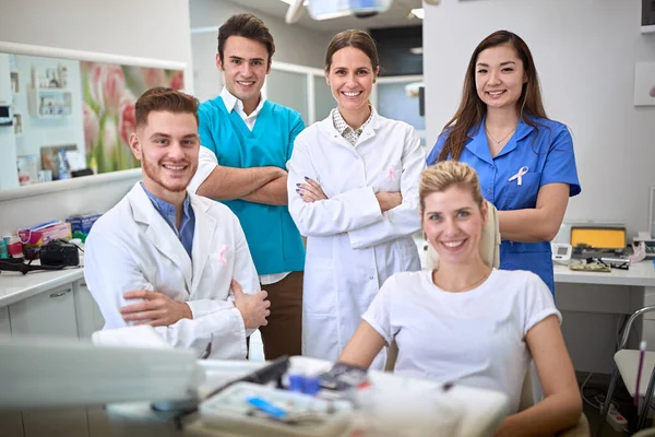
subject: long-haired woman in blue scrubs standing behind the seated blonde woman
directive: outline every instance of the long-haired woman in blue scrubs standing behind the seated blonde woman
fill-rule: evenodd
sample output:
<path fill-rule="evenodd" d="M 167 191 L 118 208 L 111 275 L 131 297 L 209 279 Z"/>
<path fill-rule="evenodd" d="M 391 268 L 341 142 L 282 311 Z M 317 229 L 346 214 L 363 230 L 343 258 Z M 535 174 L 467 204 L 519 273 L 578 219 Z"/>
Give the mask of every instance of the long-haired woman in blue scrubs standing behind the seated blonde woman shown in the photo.
<path fill-rule="evenodd" d="M 529 270 L 555 293 L 549 241 L 581 188 L 571 133 L 546 116 L 532 54 L 517 35 L 498 31 L 473 52 L 460 107 L 427 163 L 445 160 L 474 167 L 499 210 L 500 268 Z"/>

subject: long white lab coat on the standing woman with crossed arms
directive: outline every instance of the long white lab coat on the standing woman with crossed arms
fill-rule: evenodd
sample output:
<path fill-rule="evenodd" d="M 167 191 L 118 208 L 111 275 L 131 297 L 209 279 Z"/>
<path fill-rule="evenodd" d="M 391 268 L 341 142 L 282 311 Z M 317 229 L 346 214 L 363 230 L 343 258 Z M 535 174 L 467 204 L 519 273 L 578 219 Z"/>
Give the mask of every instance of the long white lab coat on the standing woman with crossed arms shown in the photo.
<path fill-rule="evenodd" d="M 336 110 L 336 109 L 333 109 Z M 307 236 L 302 354 L 335 361 L 384 281 L 420 270 L 412 235 L 419 231 L 418 182 L 425 151 L 409 125 L 373 117 L 354 147 L 332 115 L 297 138 L 288 167 L 289 212 Z M 327 200 L 305 202 L 297 184 L 309 177 Z M 400 191 L 385 213 L 376 193 Z M 385 354 L 373 363 L 381 368 Z"/>

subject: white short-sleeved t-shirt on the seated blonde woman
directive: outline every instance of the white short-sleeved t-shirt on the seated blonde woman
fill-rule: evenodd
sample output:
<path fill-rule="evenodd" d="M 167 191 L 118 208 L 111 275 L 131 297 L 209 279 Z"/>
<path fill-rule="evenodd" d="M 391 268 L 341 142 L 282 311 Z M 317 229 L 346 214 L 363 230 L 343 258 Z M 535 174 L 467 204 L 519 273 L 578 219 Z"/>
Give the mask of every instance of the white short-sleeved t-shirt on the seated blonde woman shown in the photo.
<path fill-rule="evenodd" d="M 477 288 L 450 293 L 424 270 L 386 280 L 362 318 L 388 343 L 395 338 L 395 373 L 501 391 L 516 412 L 531 361 L 525 334 L 551 315 L 561 322 L 532 272 L 493 269 Z"/>

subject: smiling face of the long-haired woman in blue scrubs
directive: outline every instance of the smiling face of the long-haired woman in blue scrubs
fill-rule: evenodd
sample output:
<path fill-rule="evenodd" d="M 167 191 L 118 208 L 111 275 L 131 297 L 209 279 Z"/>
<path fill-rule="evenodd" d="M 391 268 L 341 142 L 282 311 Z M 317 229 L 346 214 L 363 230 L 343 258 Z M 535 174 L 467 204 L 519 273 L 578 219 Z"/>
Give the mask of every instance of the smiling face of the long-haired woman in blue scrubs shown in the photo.
<path fill-rule="evenodd" d="M 509 44 L 490 47 L 478 55 L 475 85 L 478 97 L 488 108 L 515 106 L 526 82 L 523 62 Z"/>

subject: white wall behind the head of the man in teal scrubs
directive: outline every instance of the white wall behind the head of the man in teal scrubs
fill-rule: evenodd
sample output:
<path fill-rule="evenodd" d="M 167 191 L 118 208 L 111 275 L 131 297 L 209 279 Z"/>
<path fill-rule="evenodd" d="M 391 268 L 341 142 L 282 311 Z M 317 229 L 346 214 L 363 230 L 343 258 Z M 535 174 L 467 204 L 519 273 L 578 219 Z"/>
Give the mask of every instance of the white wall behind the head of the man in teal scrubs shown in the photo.
<path fill-rule="evenodd" d="M 279 17 L 245 9 L 227 0 L 190 0 L 190 7 L 191 28 L 194 32 L 191 35 L 193 79 L 195 95 L 201 101 L 221 93 L 223 78 L 215 64 L 218 27 L 237 13 L 252 13 L 264 21 L 275 40 L 273 62 L 323 68 L 323 57 L 333 36 L 330 33 L 309 32 L 297 25 L 288 25 Z"/>

